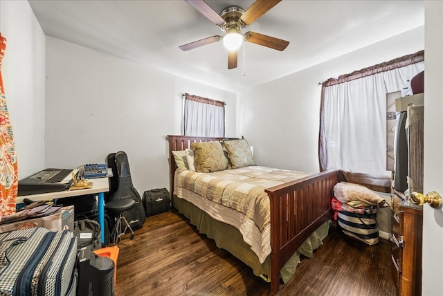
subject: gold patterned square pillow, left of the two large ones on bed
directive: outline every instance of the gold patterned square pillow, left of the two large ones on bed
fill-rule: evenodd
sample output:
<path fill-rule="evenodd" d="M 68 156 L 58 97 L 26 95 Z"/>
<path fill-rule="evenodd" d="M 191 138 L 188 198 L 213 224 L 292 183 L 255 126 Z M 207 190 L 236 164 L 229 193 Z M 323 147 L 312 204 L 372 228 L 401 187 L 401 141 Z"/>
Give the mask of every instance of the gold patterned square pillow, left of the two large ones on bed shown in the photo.
<path fill-rule="evenodd" d="M 220 142 L 195 142 L 190 148 L 194 152 L 194 165 L 197 172 L 217 172 L 228 168 L 228 160 L 224 156 Z"/>

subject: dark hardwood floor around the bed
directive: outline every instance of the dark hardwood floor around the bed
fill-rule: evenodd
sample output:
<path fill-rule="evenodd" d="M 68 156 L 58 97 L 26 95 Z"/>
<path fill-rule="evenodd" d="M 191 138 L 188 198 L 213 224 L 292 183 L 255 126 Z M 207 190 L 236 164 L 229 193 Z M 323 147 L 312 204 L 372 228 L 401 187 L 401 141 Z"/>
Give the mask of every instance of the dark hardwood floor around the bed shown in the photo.
<path fill-rule="evenodd" d="M 271 295 L 251 268 L 174 211 L 147 218 L 118 247 L 116 296 Z M 278 295 L 395 295 L 386 240 L 367 246 L 332 227 L 314 257 L 300 261 Z"/>

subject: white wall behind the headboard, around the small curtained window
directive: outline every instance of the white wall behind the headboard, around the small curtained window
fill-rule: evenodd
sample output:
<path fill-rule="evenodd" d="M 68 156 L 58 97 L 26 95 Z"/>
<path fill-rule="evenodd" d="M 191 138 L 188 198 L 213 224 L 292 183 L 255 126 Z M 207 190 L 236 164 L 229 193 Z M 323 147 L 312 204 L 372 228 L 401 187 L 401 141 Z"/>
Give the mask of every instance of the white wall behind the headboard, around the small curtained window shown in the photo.
<path fill-rule="evenodd" d="M 226 136 L 237 136 L 234 93 L 46 37 L 46 167 L 123 150 L 139 192 L 169 188 L 165 136 L 182 133 L 182 93 L 226 102 Z"/>

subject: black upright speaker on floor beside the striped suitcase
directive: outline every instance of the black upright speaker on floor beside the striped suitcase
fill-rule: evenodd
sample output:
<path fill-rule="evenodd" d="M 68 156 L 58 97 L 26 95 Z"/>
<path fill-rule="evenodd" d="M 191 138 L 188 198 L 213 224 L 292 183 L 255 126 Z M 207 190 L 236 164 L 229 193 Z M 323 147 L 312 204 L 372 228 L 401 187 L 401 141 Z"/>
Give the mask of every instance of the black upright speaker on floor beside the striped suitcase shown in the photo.
<path fill-rule="evenodd" d="M 114 296 L 114 261 L 100 257 L 89 246 L 78 255 L 77 295 Z"/>

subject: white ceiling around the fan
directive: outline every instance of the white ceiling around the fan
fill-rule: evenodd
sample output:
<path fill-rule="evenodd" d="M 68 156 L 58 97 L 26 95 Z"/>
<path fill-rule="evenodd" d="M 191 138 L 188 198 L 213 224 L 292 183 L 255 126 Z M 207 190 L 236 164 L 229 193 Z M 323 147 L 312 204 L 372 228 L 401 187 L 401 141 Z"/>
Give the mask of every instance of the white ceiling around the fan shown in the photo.
<path fill-rule="evenodd" d="M 246 10 L 253 2 L 206 1 L 216 12 L 231 5 Z M 228 70 L 221 42 L 179 50 L 222 35 L 183 0 L 29 3 L 48 36 L 228 90 L 269 82 L 424 25 L 423 1 L 283 0 L 242 32 L 290 41 L 286 50 L 246 43 L 238 67 Z"/>

